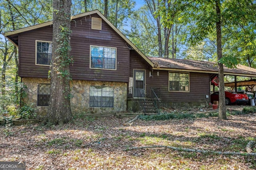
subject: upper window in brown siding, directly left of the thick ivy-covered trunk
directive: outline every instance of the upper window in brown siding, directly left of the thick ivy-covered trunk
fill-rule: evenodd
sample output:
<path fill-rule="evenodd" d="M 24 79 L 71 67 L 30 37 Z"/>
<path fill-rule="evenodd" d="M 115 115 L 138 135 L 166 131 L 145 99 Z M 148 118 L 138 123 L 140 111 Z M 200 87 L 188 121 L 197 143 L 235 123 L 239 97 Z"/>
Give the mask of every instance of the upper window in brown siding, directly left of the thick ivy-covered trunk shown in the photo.
<path fill-rule="evenodd" d="M 51 64 L 52 60 L 52 42 L 36 40 L 36 65 Z"/>

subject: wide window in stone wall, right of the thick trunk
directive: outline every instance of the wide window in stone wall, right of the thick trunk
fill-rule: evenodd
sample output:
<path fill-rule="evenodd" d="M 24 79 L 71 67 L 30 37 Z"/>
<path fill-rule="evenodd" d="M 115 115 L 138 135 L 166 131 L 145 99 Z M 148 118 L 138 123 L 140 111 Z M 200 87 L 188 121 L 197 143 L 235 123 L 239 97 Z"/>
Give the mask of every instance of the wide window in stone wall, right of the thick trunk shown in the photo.
<path fill-rule="evenodd" d="M 114 107 L 114 87 L 90 86 L 90 107 Z"/>

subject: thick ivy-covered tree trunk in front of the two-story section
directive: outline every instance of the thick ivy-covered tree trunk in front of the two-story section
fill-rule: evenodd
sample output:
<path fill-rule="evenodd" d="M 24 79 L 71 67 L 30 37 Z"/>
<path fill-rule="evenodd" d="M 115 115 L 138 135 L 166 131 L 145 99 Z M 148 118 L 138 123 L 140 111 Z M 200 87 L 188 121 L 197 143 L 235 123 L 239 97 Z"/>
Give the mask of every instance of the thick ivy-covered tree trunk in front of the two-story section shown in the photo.
<path fill-rule="evenodd" d="M 53 0 L 51 95 L 43 124 L 72 122 L 70 108 L 70 17 L 71 0 Z"/>

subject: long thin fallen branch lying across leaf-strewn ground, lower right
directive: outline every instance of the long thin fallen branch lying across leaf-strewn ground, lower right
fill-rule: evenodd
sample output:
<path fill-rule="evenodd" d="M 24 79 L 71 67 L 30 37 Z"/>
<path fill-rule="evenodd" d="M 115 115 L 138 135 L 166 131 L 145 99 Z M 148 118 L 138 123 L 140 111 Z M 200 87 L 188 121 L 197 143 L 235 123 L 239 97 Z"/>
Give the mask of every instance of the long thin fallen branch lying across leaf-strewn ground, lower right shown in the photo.
<path fill-rule="evenodd" d="M 214 154 L 230 154 L 230 155 L 244 155 L 244 156 L 250 155 L 250 156 L 256 156 L 256 153 L 217 152 L 217 151 L 210 151 L 210 150 L 177 148 L 177 147 L 170 147 L 170 146 L 164 146 L 164 145 L 153 145 L 153 146 L 144 146 L 144 147 L 131 147 L 131 148 L 123 149 L 123 150 L 146 149 L 146 148 L 166 148 L 166 149 L 173 149 L 173 150 L 186 151 L 186 152 L 199 152 L 199 153 L 214 153 Z"/>

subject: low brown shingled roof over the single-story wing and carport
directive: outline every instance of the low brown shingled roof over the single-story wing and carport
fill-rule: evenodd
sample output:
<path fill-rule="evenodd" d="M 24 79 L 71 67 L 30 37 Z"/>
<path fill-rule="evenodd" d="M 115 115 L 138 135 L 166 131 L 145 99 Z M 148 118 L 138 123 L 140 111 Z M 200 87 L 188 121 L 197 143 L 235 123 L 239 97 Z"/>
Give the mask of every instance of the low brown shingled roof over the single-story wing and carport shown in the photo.
<path fill-rule="evenodd" d="M 218 65 L 209 61 L 194 61 L 184 59 L 166 59 L 158 57 L 148 57 L 155 67 L 153 69 L 186 71 L 186 72 L 206 72 L 218 74 Z M 224 66 L 224 74 L 236 76 L 256 77 L 256 69 L 238 64 L 236 68 L 228 68 Z"/>

